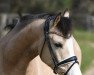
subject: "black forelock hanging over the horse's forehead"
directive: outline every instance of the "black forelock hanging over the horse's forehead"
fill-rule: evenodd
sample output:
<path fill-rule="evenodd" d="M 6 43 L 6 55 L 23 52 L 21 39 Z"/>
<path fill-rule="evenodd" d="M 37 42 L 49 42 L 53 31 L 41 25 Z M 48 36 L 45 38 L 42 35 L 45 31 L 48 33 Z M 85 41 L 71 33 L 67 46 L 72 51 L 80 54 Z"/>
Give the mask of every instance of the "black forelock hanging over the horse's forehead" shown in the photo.
<path fill-rule="evenodd" d="M 71 35 L 72 31 L 71 19 L 67 17 L 61 17 L 57 28 L 63 34 L 64 38 L 69 38 L 69 35 Z"/>

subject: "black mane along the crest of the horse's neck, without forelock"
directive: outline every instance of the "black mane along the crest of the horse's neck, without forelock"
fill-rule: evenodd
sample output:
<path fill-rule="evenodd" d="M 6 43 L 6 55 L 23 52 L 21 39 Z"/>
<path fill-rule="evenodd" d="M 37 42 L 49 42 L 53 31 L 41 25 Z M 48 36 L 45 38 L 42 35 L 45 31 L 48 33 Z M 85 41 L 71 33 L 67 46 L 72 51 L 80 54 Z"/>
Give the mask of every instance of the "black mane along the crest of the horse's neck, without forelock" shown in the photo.
<path fill-rule="evenodd" d="M 18 14 L 19 15 L 19 14 Z M 26 25 L 32 22 L 34 19 L 47 19 L 48 16 L 54 16 L 55 13 L 42 13 L 42 14 L 25 14 L 17 18 L 12 19 L 12 23 L 7 23 L 3 30 L 9 29 L 10 31 L 19 23 L 25 22 Z M 16 23 L 14 22 L 16 20 Z"/>

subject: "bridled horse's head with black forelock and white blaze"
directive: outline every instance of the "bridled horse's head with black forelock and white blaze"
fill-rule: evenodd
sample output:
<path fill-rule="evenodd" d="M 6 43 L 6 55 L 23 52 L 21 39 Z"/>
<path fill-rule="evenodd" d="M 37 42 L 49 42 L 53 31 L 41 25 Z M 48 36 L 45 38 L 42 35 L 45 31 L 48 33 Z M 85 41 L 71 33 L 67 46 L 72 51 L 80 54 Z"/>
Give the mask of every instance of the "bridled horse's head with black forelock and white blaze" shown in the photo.
<path fill-rule="evenodd" d="M 59 13 L 55 17 L 48 17 L 45 21 L 45 40 L 40 56 L 54 70 L 54 73 L 60 75 L 81 75 L 79 62 L 73 49 L 71 30 L 68 11 L 63 15 Z"/>

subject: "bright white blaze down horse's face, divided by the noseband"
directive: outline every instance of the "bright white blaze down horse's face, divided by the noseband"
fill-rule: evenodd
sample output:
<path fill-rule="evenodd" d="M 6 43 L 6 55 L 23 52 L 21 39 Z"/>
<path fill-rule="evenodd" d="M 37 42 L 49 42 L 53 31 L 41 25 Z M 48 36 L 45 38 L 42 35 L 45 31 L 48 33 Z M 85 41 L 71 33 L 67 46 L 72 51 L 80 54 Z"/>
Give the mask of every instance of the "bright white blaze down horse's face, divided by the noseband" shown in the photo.
<path fill-rule="evenodd" d="M 68 52 L 69 52 L 68 58 L 71 57 L 71 56 L 75 56 L 75 54 L 74 54 L 74 49 L 73 49 L 73 39 L 72 39 L 72 37 L 70 37 L 70 38 L 67 40 L 66 46 L 67 46 L 67 50 L 68 50 Z M 78 63 L 75 63 L 75 64 L 73 65 L 73 67 L 72 67 L 72 68 L 70 69 L 70 71 L 68 72 L 68 75 L 82 75 Z"/>

